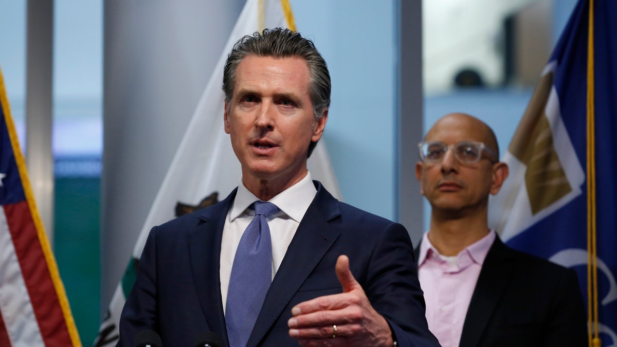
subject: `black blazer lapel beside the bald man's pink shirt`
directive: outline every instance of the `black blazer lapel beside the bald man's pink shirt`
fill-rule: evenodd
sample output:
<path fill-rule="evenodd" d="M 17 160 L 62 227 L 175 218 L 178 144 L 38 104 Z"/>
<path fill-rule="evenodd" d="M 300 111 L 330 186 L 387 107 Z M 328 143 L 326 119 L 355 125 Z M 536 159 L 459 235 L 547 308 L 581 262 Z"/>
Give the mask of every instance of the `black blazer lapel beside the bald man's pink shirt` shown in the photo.
<path fill-rule="evenodd" d="M 508 284 L 512 265 L 509 249 L 497 236 L 484 259 L 478 283 L 471 296 L 463 324 L 460 347 L 478 346 L 503 290 Z"/>

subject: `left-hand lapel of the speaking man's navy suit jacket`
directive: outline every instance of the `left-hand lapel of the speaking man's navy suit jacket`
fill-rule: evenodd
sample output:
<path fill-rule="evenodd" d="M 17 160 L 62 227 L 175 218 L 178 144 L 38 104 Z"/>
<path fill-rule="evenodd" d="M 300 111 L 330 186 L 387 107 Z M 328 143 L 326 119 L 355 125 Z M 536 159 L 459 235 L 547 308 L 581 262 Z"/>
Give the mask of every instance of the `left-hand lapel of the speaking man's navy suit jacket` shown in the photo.
<path fill-rule="evenodd" d="M 235 195 L 236 190 L 225 200 L 199 214 L 199 224 L 189 232 L 189 255 L 199 302 L 210 330 L 223 337 L 226 344 L 228 340 L 219 270 L 225 217 Z"/>

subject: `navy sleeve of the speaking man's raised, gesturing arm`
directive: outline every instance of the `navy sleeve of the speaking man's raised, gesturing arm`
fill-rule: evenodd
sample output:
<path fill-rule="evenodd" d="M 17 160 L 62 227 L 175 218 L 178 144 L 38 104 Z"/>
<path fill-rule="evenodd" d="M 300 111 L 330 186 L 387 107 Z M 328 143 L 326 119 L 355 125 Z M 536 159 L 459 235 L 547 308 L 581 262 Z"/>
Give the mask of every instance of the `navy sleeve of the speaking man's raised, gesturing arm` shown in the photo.
<path fill-rule="evenodd" d="M 439 346 L 428 330 L 424 295 L 412 241 L 400 224 L 391 224 L 371 255 L 365 292 L 391 327 L 399 346 Z"/>

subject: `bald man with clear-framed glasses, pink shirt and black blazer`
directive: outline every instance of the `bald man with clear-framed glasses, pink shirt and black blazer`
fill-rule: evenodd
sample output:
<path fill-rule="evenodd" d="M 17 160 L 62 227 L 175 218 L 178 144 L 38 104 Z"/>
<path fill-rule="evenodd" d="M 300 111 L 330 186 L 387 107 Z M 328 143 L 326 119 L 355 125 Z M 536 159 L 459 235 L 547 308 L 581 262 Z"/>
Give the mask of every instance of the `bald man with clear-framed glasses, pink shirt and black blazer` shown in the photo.
<path fill-rule="evenodd" d="M 586 346 L 574 270 L 510 249 L 488 227 L 489 195 L 508 177 L 491 128 L 468 114 L 445 115 L 418 149 L 416 177 L 432 210 L 415 252 L 439 343 Z"/>

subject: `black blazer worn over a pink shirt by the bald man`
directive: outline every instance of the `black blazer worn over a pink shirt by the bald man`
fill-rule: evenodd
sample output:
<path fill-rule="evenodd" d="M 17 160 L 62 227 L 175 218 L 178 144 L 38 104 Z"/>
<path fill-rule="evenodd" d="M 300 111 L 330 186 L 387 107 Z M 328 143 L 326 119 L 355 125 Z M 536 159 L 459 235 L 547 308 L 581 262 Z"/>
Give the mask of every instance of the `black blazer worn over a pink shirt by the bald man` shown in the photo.
<path fill-rule="evenodd" d="M 420 247 L 416 248 L 416 259 Z M 587 346 L 576 272 L 495 238 L 484 259 L 460 347 Z"/>

